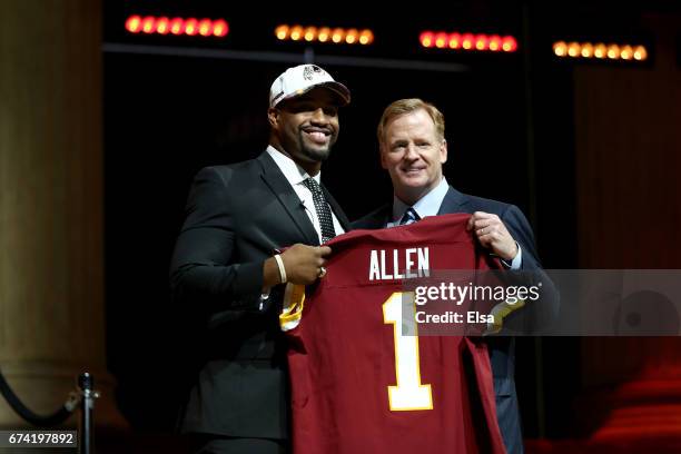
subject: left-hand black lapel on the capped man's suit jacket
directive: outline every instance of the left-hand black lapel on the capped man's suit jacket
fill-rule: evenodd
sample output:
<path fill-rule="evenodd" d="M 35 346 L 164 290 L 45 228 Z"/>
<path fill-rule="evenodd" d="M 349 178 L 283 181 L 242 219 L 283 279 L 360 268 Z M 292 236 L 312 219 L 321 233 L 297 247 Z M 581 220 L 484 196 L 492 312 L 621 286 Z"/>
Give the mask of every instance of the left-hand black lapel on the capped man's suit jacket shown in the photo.
<path fill-rule="evenodd" d="M 290 219 L 300 231 L 300 235 L 306 239 L 306 243 L 308 245 L 319 245 L 319 236 L 309 221 L 309 217 L 307 217 L 305 213 L 305 207 L 303 203 L 300 203 L 300 198 L 284 174 L 282 174 L 277 164 L 267 155 L 267 151 L 263 152 L 257 160 L 263 166 L 263 174 L 260 177 L 288 213 Z M 257 208 L 254 207 L 254 209 Z"/>

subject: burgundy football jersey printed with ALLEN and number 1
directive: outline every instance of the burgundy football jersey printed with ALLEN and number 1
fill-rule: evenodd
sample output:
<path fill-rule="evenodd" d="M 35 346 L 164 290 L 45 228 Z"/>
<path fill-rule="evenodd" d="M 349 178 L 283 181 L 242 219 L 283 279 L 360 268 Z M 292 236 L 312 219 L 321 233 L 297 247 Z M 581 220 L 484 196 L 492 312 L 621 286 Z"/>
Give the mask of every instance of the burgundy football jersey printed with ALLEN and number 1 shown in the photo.
<path fill-rule="evenodd" d="M 468 218 L 351 231 L 318 285 L 287 287 L 295 454 L 505 453 L 484 342 L 402 320 L 404 279 L 497 267 Z"/>

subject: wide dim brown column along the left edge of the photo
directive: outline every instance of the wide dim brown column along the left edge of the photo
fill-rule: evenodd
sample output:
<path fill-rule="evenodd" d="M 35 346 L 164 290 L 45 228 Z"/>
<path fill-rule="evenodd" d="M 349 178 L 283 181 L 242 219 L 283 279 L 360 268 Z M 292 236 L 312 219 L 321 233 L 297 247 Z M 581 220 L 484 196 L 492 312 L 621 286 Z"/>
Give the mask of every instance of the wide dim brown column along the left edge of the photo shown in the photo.
<path fill-rule="evenodd" d="M 96 424 L 120 426 L 105 361 L 101 23 L 99 0 L 0 2 L 0 369 L 40 414 L 90 372 Z M 26 425 L 0 398 L 0 427 Z"/>

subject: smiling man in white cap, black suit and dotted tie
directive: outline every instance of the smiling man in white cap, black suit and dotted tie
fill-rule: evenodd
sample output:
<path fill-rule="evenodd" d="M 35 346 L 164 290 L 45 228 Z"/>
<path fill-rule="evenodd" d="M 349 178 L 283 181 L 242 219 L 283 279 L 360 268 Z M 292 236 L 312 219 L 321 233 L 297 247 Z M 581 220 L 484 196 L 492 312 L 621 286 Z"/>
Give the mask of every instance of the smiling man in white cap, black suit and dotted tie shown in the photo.
<path fill-rule="evenodd" d="M 349 229 L 319 180 L 349 99 L 315 65 L 287 69 L 269 91 L 267 149 L 195 177 L 170 285 L 205 314 L 205 356 L 180 421 L 197 452 L 287 452 L 280 284 L 323 278 L 330 249 L 319 245 Z"/>

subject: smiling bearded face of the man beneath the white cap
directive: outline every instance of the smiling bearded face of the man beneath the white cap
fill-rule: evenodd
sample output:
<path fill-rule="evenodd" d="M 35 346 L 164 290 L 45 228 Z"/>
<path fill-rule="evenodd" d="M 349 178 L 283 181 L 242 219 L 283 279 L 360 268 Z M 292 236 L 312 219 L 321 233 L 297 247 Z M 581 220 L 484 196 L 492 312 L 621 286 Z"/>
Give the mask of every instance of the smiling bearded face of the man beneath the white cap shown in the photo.
<path fill-rule="evenodd" d="M 272 145 L 314 176 L 338 138 L 338 99 L 325 88 L 279 102 L 268 111 Z"/>

